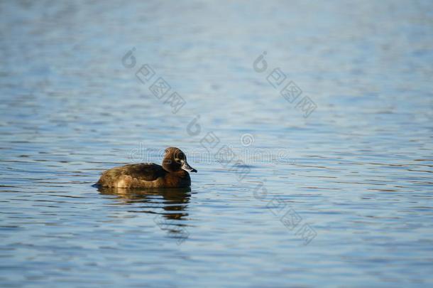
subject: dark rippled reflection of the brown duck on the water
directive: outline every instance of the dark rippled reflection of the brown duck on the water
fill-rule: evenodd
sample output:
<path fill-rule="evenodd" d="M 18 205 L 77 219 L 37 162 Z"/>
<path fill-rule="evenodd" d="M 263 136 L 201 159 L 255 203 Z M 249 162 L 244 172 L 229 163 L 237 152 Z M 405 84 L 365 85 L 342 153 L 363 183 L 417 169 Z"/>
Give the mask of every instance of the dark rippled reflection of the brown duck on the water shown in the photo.
<path fill-rule="evenodd" d="M 140 205 L 143 210 L 133 212 L 154 214 L 153 221 L 161 230 L 166 230 L 170 237 L 183 242 L 189 235 L 186 230 L 187 209 L 190 203 L 191 188 L 112 188 L 99 187 L 102 195 L 117 196 L 124 205 Z M 142 205 L 142 204 L 146 205 Z M 160 208 L 163 212 L 160 212 Z"/>

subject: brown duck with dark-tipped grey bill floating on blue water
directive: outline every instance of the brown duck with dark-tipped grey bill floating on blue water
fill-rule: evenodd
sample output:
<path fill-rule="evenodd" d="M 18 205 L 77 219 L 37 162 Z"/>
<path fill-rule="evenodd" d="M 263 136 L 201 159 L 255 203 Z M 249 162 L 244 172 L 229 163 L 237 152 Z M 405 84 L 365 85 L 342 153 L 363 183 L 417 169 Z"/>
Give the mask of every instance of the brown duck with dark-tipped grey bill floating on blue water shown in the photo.
<path fill-rule="evenodd" d="M 165 149 L 162 165 L 128 164 L 102 173 L 96 186 L 115 188 L 185 188 L 191 186 L 190 173 L 197 173 L 179 148 Z"/>

